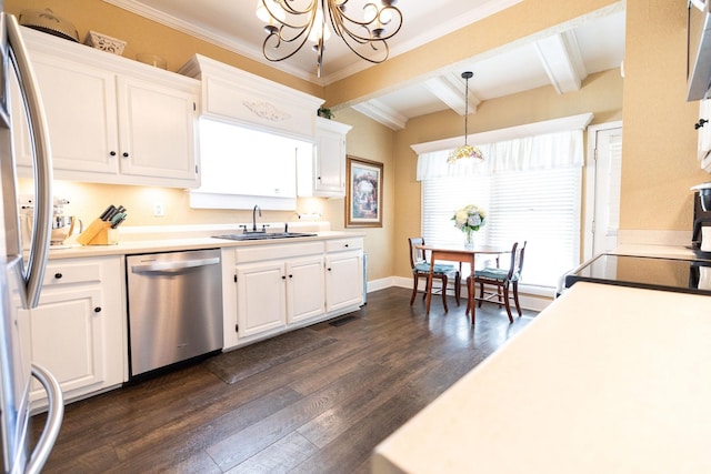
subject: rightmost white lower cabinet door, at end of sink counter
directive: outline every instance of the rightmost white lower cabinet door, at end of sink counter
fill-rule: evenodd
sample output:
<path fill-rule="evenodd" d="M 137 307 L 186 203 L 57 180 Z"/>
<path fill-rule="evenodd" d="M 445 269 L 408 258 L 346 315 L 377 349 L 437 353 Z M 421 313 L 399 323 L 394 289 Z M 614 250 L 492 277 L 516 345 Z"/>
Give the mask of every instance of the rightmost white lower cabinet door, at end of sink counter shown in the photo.
<path fill-rule="evenodd" d="M 363 303 L 361 252 L 338 252 L 326 256 L 326 311 Z"/>

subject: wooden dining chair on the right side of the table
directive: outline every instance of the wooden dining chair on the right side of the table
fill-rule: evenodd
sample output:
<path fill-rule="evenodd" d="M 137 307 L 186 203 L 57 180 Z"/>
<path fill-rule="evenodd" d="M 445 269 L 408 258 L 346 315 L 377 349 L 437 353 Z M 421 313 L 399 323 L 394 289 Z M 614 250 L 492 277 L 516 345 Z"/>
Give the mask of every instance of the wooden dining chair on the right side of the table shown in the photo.
<path fill-rule="evenodd" d="M 479 283 L 479 307 L 484 301 L 498 303 L 499 307 L 502 305 L 507 309 L 509 322 L 513 322 L 511 315 L 510 300 L 513 300 L 515 310 L 521 316 L 521 304 L 519 303 L 519 281 L 521 280 L 521 271 L 523 270 L 523 254 L 525 252 L 525 241 L 523 245 L 519 248 L 519 243 L 514 242 L 511 248 L 511 259 L 508 269 L 500 269 L 497 266 L 485 266 L 482 270 L 474 271 L 474 285 L 470 286 L 470 278 L 467 279 L 467 288 L 472 288 L 475 291 L 475 284 Z M 487 290 L 485 285 L 495 286 L 495 291 Z M 495 297 L 495 301 L 493 299 Z M 469 306 L 467 306 L 469 311 Z"/>

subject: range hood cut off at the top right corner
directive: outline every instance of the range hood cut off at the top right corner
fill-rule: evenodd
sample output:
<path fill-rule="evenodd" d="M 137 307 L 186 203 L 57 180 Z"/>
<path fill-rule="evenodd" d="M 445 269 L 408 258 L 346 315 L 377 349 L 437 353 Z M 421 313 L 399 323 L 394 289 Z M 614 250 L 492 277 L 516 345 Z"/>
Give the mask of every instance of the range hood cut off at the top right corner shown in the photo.
<path fill-rule="evenodd" d="M 687 101 L 711 97 L 711 0 L 689 0 Z"/>

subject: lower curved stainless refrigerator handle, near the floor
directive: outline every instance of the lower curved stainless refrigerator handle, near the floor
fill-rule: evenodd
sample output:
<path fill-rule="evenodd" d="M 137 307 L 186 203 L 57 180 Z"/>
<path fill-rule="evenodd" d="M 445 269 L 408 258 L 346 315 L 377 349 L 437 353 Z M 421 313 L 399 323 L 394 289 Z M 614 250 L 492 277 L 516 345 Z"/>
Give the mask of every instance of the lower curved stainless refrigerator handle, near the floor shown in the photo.
<path fill-rule="evenodd" d="M 54 379 L 47 369 L 36 364 L 32 364 L 32 376 L 34 376 L 34 379 L 42 384 L 44 391 L 47 391 L 49 407 L 47 409 L 44 430 L 42 430 L 40 441 L 38 441 L 34 451 L 32 451 L 30 462 L 27 465 L 27 474 L 37 474 L 42 471 L 49 454 L 52 452 L 52 446 L 54 446 L 62 418 L 64 417 L 64 400 L 57 379 Z"/>

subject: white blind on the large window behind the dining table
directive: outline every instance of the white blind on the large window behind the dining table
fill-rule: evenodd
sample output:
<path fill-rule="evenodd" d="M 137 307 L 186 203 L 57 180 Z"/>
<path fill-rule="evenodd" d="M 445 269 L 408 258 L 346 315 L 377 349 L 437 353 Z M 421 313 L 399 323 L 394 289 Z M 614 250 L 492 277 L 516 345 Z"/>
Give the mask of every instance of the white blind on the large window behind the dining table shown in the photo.
<path fill-rule="evenodd" d="M 522 283 L 555 288 L 579 263 L 581 175 L 580 167 L 567 167 L 424 180 L 422 236 L 432 245 L 462 245 L 451 218 L 477 204 L 488 218 L 474 242 L 510 248 L 528 241 Z"/>

